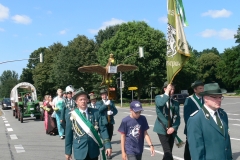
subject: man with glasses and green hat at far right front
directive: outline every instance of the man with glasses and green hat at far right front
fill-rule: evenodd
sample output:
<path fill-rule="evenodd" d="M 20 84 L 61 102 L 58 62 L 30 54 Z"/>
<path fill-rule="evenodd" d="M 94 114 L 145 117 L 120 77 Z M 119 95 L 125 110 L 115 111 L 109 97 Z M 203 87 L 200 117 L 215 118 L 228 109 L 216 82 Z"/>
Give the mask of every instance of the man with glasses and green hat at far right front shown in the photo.
<path fill-rule="evenodd" d="M 228 133 L 228 116 L 221 109 L 222 94 L 218 83 L 204 85 L 204 105 L 191 114 L 187 122 L 187 139 L 192 160 L 230 160 L 232 149 Z"/>

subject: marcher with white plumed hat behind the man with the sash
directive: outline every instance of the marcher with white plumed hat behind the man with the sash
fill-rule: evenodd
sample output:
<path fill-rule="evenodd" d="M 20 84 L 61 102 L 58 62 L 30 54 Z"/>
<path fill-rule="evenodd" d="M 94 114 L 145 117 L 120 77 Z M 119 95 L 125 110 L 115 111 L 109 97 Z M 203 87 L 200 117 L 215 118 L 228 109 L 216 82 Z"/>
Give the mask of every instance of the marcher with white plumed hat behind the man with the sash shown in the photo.
<path fill-rule="evenodd" d="M 71 112 L 73 109 L 76 107 L 75 101 L 72 99 L 72 94 L 74 92 L 74 88 L 72 85 L 69 85 L 66 87 L 66 94 L 67 98 L 65 98 L 65 105 L 62 109 L 61 112 L 61 123 L 62 126 L 65 128 L 66 124 L 66 119 L 70 118 L 69 112 Z"/>

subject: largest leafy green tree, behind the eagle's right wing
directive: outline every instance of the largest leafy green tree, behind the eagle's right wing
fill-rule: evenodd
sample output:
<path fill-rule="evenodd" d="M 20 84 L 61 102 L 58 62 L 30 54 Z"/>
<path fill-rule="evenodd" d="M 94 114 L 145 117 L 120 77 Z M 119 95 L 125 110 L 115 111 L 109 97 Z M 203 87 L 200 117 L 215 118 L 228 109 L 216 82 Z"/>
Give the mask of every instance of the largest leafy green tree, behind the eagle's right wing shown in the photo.
<path fill-rule="evenodd" d="M 113 53 L 116 63 L 136 65 L 138 69 L 123 74 L 125 86 L 137 86 L 137 97 L 150 94 L 150 87 L 161 88 L 166 77 L 166 39 L 164 33 L 149 27 L 145 22 L 128 22 L 120 25 L 111 39 L 104 40 L 97 56 L 105 66 L 109 54 Z M 144 47 L 144 58 L 138 58 L 138 47 Z M 127 58 L 126 58 L 127 57 Z M 125 93 L 128 92 L 125 90 Z"/>

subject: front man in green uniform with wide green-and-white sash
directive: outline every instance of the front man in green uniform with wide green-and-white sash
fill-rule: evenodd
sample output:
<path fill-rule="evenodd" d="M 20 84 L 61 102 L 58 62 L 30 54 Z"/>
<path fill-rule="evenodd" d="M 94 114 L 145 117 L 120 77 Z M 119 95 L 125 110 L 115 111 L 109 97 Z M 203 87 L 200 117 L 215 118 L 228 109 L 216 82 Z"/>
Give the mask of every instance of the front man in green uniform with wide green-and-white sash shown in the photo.
<path fill-rule="evenodd" d="M 76 160 L 98 160 L 99 155 L 106 160 L 105 154 L 111 155 L 112 149 L 105 116 L 101 116 L 97 109 L 87 107 L 87 93 L 84 90 L 76 91 L 73 99 L 77 108 L 70 112 L 70 119 L 66 120 L 71 121 L 67 122 L 70 125 L 66 126 L 65 132 L 66 160 L 71 159 L 72 148 Z"/>

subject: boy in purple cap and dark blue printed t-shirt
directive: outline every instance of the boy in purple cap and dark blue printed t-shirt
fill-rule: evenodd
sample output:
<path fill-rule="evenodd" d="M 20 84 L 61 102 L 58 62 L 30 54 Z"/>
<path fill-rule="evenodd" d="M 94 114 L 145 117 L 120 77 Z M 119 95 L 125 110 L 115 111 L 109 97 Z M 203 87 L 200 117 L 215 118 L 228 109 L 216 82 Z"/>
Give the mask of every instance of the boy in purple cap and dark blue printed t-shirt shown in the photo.
<path fill-rule="evenodd" d="M 150 136 L 147 133 L 149 129 L 145 116 L 141 115 L 142 105 L 139 101 L 132 101 L 130 104 L 130 115 L 123 118 L 118 131 L 121 133 L 122 159 L 141 160 L 144 138 L 150 146 L 151 156 L 155 151 Z"/>

